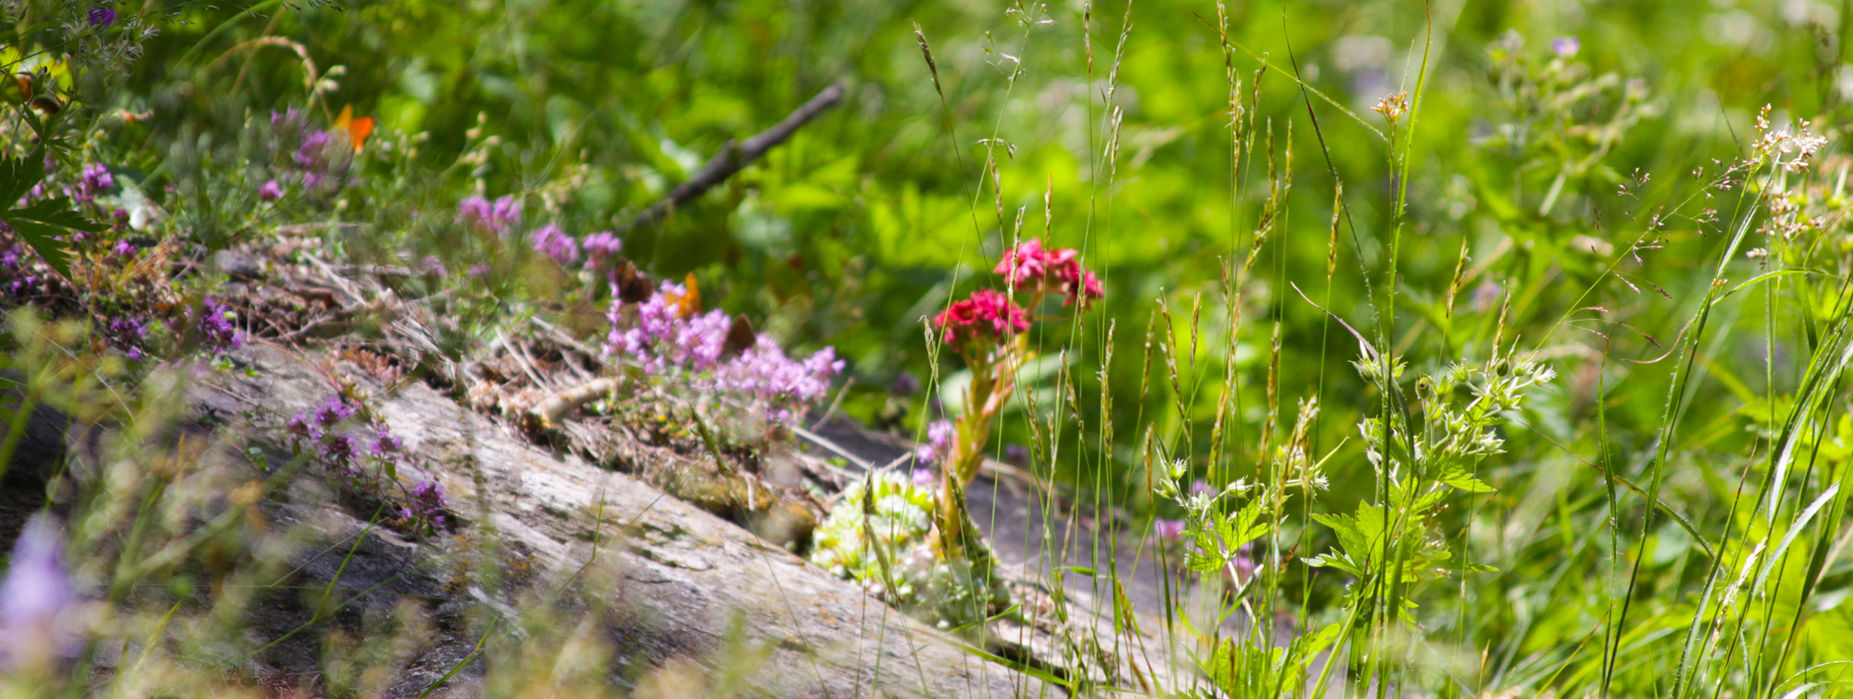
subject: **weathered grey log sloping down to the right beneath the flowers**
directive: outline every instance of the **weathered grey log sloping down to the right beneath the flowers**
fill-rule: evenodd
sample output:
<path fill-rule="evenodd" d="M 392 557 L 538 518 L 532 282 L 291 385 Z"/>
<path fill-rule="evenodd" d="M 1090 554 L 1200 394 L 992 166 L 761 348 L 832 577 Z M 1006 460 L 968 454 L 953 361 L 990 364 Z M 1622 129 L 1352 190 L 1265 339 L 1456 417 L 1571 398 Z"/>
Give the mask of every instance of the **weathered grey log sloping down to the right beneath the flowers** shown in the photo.
<path fill-rule="evenodd" d="M 250 347 L 239 360 L 254 371 L 208 378 L 191 391 L 195 410 L 267 415 L 254 425 L 282 425 L 328 395 L 326 373 L 311 360 L 267 347 Z M 274 508 L 274 517 L 311 527 L 315 543 L 322 543 L 308 549 L 322 553 L 304 560 L 285 586 L 326 584 L 339 571 L 341 588 L 363 590 L 328 623 L 358 623 L 402 601 L 415 601 L 435 621 L 437 634 L 408 658 L 389 695 L 417 695 L 471 658 L 484 630 L 469 619 L 513 614 L 523 590 L 550 590 L 548 584 L 561 584 L 587 566 L 617 569 L 611 590 L 593 593 L 610 603 L 608 638 L 624 660 L 621 666 L 715 662 L 728 636 L 743 632 L 765 653 L 749 679 L 758 695 L 1060 695 L 960 651 L 956 642 L 886 608 L 854 584 L 626 475 L 534 447 L 511 425 L 469 412 L 422 384 L 384 395 L 367 376 L 350 378 L 376 395 L 378 415 L 402 436 L 417 467 L 441 480 L 461 519 L 456 532 L 406 538 L 378 527 L 369 530 L 369 514 L 350 508 Z M 335 543 L 352 536 L 361 536 L 361 543 L 343 560 L 348 545 Z M 532 577 L 504 578 L 498 586 L 469 578 L 460 584 L 469 571 L 460 560 L 460 541 L 498 556 L 504 569 L 526 567 Z M 254 610 L 254 619 L 261 634 L 276 638 L 313 616 L 295 597 L 276 595 Z M 263 662 L 280 673 L 315 671 L 319 634 L 298 636 L 276 643 Z M 434 695 L 476 695 L 482 660 L 461 667 Z M 613 680 L 624 679 L 613 669 Z"/>

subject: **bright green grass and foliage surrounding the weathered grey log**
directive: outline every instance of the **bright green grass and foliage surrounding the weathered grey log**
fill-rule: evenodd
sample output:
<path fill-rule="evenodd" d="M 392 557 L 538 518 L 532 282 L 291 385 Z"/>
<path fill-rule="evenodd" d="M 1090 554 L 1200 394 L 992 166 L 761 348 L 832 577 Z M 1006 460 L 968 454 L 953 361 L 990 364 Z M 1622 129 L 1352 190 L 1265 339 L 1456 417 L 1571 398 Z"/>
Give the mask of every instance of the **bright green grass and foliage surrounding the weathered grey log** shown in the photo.
<path fill-rule="evenodd" d="M 334 263 L 435 258 L 448 273 L 400 293 L 452 321 L 434 334 L 445 358 L 528 317 L 599 345 L 600 278 L 519 235 L 621 228 L 728 139 L 845 80 L 843 104 L 763 161 L 623 230 L 624 256 L 693 274 L 704 306 L 793 356 L 836 347 L 849 369 L 826 402 L 923 438 L 973 382 L 923 341 L 925 319 L 1001 287 L 990 269 L 1015 241 L 1078 248 L 1106 295 L 1036 323 L 984 452 L 1025 445 L 1030 475 L 1128 514 L 1090 534 L 1116 551 L 1132 527 L 1177 593 L 1145 629 L 1190 679 L 1166 692 L 1847 693 L 1846 6 L 111 7 L 107 32 L 56 2 L 0 20 L 0 61 L 70 91 L 54 115 L 9 96 L 6 154 L 43 145 L 67 182 L 109 165 L 117 189 L 83 211 L 135 211 L 102 235 L 170 258 L 285 239 Z M 352 178 L 258 197 L 293 167 L 271 113 L 324 128 L 348 106 L 378 121 Z M 1781 141 L 1799 119 L 1825 135 L 1805 163 Z M 526 226 L 458 226 L 469 195 L 515 195 Z M 80 265 L 33 304 L 95 328 L 15 315 L 7 367 L 41 400 L 156 434 L 172 417 L 161 388 L 91 337 L 224 284 Z M 202 343 L 183 313 L 150 323 L 154 354 Z M 891 389 L 901 376 L 925 391 Z M 80 497 L 70 530 L 117 541 L 72 551 L 120 610 L 109 636 L 226 643 L 245 603 L 228 590 L 274 578 L 287 538 L 163 515 L 239 488 L 232 475 L 120 477 Z M 1217 495 L 1193 495 L 1197 478 Z M 1153 536 L 1158 519 L 1184 519 L 1184 541 Z M 200 580 L 130 556 L 206 545 L 250 564 Z M 1130 575 L 1047 554 L 1047 578 L 1097 571 L 1095 599 Z M 1240 584 L 1212 599 L 1242 630 L 1186 619 L 1186 591 L 1225 577 Z M 519 640 L 485 636 L 491 690 L 571 666 L 584 675 L 558 680 L 574 692 L 615 692 L 584 656 L 548 666 L 591 640 L 534 614 Z M 174 658 L 150 660 L 150 686 L 235 684 Z M 361 675 L 330 677 L 358 695 Z M 78 675 L 0 684 L 85 692 Z"/>

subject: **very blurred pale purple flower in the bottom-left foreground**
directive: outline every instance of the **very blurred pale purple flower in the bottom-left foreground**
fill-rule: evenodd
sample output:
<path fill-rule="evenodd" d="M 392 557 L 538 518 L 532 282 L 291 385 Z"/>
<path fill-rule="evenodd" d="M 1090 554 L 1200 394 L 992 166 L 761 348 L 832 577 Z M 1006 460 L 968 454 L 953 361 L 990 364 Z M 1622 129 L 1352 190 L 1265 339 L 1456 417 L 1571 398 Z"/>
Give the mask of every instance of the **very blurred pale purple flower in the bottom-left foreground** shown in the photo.
<path fill-rule="evenodd" d="M 78 591 L 61 560 L 63 543 L 52 515 L 39 512 L 13 541 L 6 580 L 0 580 L 0 662 L 41 664 L 76 640 L 70 612 Z"/>

